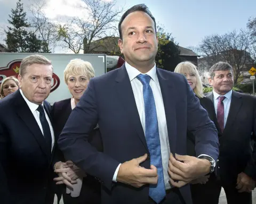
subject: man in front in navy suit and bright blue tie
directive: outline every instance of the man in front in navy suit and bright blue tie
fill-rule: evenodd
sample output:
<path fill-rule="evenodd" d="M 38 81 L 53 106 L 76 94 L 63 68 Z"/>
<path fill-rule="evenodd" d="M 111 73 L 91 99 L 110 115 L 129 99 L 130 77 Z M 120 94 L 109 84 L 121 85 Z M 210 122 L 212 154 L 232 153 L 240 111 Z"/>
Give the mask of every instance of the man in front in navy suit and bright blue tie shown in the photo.
<path fill-rule="evenodd" d="M 155 66 L 158 39 L 144 4 L 119 22 L 125 64 L 90 80 L 58 144 L 102 183 L 102 203 L 192 203 L 188 182 L 213 172 L 218 136 L 187 80 Z M 103 153 L 88 142 L 99 124 Z M 187 129 L 197 157 L 186 156 Z"/>

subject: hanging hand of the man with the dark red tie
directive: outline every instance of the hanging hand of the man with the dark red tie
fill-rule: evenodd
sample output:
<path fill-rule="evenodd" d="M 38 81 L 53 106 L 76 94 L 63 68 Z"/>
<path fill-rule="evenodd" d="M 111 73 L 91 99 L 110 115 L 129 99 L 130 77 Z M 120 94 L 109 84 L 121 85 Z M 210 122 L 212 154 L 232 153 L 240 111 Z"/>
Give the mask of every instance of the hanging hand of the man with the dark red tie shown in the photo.
<path fill-rule="evenodd" d="M 255 181 L 250 176 L 246 175 L 243 172 L 238 174 L 236 184 L 237 184 L 236 189 L 238 189 L 239 193 L 242 193 L 242 192 L 250 193 L 255 187 Z"/>

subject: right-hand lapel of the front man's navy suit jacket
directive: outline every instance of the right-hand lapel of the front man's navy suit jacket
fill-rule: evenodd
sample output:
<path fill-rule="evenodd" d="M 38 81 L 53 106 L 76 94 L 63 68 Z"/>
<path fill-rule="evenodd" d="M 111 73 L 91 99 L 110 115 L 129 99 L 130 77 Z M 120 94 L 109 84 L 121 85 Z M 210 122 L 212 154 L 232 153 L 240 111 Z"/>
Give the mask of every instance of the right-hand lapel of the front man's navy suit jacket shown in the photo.
<path fill-rule="evenodd" d="M 175 104 L 174 104 L 174 100 L 172 99 L 173 83 L 171 80 L 168 80 L 168 78 L 165 77 L 161 69 L 157 68 L 156 73 L 157 73 L 159 85 L 160 85 L 162 96 L 163 96 L 170 150 L 172 153 L 175 153 L 177 129 L 176 129 L 176 120 L 173 119 L 173 118 L 176 118 L 176 111 L 174 108 Z"/>

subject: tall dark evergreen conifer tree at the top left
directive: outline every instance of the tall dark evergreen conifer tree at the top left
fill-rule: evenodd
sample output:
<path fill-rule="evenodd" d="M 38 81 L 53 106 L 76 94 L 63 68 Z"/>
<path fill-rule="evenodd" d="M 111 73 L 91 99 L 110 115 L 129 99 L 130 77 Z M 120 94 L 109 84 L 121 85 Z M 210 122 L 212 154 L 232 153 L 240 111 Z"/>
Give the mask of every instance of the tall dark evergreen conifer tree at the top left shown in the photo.
<path fill-rule="evenodd" d="M 23 10 L 21 0 L 18 0 L 16 8 L 11 10 L 7 27 L 6 45 L 10 52 L 49 52 L 45 49 L 45 44 L 38 39 L 26 19 L 26 12 Z"/>

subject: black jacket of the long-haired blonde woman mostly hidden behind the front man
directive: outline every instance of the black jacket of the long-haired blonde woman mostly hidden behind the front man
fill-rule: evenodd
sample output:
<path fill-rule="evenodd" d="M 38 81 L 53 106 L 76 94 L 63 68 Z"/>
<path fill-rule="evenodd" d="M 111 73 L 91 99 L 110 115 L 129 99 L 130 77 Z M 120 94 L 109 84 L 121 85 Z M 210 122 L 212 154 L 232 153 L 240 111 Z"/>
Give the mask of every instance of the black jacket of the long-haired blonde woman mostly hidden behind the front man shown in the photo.
<path fill-rule="evenodd" d="M 215 110 L 214 110 L 214 105 L 213 105 L 212 101 L 207 97 L 200 98 L 199 101 L 200 101 L 200 104 L 202 105 L 202 107 L 207 111 L 209 118 L 213 121 L 218 132 L 220 132 L 217 117 L 216 117 Z M 188 155 L 193 156 L 193 157 L 198 157 L 199 154 L 196 153 L 196 151 L 195 151 L 195 142 L 196 142 L 195 134 L 188 131 L 187 132 Z"/>

